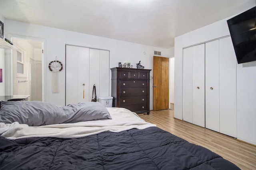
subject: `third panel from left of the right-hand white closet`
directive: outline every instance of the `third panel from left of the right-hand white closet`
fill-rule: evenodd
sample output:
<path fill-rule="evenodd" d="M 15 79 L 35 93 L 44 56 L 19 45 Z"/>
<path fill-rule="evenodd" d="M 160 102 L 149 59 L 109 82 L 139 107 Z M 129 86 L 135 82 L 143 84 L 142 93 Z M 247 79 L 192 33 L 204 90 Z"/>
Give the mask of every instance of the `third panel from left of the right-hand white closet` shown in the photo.
<path fill-rule="evenodd" d="M 205 44 L 205 127 L 220 131 L 219 40 Z"/>

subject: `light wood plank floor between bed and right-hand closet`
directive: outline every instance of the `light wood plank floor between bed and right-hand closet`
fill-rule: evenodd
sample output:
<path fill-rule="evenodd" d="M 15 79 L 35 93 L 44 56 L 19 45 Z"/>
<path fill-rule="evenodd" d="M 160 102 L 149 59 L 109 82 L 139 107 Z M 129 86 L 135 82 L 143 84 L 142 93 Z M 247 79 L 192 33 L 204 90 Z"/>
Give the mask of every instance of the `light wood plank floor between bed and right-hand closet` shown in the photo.
<path fill-rule="evenodd" d="M 242 170 L 256 170 L 256 146 L 254 145 L 175 119 L 174 111 L 170 109 L 150 111 L 149 115 L 139 114 L 139 116 L 190 143 L 212 150 Z"/>

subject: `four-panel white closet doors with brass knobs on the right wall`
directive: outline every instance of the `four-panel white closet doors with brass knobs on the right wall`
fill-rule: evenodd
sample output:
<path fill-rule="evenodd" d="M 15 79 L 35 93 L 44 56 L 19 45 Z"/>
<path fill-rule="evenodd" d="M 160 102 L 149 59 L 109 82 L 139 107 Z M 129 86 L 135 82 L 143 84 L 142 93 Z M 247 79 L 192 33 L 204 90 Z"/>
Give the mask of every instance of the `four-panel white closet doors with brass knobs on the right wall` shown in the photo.
<path fill-rule="evenodd" d="M 236 56 L 230 37 L 183 50 L 183 120 L 202 127 L 205 120 L 206 128 L 236 137 Z"/>

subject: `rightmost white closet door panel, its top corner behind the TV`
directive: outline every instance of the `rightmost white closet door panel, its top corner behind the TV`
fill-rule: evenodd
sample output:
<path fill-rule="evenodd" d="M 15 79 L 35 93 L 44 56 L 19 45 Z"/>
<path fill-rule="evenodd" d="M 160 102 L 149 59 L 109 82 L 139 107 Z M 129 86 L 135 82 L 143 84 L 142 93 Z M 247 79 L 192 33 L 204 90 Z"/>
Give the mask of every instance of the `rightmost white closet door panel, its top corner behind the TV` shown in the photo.
<path fill-rule="evenodd" d="M 230 37 L 220 39 L 220 133 L 236 137 L 236 55 Z"/>

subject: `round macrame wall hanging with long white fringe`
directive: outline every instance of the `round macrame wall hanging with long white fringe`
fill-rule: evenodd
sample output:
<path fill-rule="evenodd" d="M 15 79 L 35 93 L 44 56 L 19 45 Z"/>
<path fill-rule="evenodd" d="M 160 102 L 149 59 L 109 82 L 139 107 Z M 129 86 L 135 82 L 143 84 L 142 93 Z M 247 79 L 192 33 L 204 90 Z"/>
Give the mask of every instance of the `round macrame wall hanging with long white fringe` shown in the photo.
<path fill-rule="evenodd" d="M 52 71 L 52 93 L 58 93 L 59 72 L 63 69 L 63 64 L 57 60 L 57 56 L 55 57 L 55 61 L 49 63 L 49 69 Z"/>

